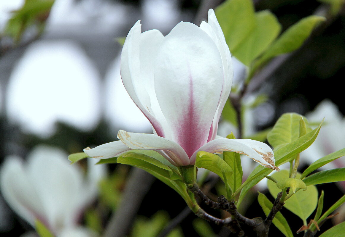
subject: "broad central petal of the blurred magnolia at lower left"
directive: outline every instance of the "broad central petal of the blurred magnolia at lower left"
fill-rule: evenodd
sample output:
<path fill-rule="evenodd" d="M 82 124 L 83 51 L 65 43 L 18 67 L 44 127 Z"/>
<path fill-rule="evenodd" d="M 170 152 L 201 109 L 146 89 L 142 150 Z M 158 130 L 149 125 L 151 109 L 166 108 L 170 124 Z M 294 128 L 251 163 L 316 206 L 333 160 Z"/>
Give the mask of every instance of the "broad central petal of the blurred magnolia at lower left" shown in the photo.
<path fill-rule="evenodd" d="M 70 165 L 67 154 L 48 146 L 36 147 L 29 155 L 28 178 L 37 190 L 41 204 L 54 233 L 73 226 L 79 214 L 79 194 L 83 174 L 77 165 Z"/>

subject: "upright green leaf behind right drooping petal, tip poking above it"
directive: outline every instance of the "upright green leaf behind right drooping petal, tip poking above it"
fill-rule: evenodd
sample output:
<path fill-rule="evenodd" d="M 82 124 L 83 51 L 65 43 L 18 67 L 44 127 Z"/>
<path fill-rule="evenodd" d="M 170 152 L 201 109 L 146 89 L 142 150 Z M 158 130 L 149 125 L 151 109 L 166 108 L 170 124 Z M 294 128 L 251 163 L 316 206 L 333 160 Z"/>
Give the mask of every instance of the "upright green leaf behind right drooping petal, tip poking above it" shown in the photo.
<path fill-rule="evenodd" d="M 229 134 L 226 138 L 235 139 L 235 136 L 231 132 L 231 134 Z M 231 151 L 224 151 L 223 159 L 230 166 L 233 172 L 230 175 L 230 178 L 227 180 L 228 184 L 230 185 L 232 190 L 237 190 L 237 188 L 239 188 L 239 186 L 241 186 L 242 184 L 243 175 L 240 154 Z"/>

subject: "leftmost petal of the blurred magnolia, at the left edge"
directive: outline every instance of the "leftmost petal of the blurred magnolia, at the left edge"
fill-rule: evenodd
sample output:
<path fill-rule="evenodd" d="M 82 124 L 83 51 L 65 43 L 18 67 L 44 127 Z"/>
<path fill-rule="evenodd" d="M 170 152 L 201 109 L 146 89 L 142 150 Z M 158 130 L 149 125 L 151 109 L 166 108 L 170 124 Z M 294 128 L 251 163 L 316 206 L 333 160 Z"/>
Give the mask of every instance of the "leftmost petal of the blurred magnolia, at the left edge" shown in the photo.
<path fill-rule="evenodd" d="M 48 224 L 40 197 L 28 179 L 21 158 L 6 158 L 0 169 L 0 188 L 10 207 L 28 223 L 34 226 L 35 219 L 39 219 Z"/>

